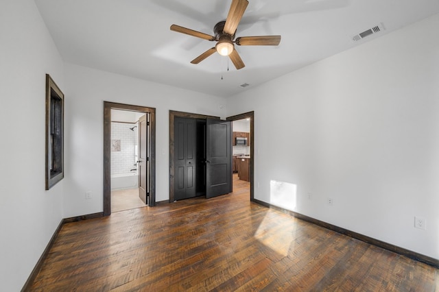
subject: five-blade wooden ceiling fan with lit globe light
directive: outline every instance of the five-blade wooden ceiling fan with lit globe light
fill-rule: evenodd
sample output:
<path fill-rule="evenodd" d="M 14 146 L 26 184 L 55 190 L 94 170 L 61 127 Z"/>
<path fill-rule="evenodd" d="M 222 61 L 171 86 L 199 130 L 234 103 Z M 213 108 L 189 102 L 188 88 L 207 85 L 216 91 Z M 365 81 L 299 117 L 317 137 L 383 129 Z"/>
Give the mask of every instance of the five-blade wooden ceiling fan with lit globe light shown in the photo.
<path fill-rule="evenodd" d="M 181 27 L 179 25 L 171 25 L 171 30 L 174 32 L 189 34 L 189 36 L 195 36 L 204 40 L 217 42 L 215 47 L 208 49 L 200 56 L 193 59 L 191 61 L 192 64 L 200 63 L 202 60 L 206 59 L 217 51 L 219 55 L 229 56 L 236 69 L 239 70 L 244 68 L 246 65 L 244 62 L 242 62 L 239 53 L 235 49 L 234 43 L 239 46 L 279 45 L 279 42 L 281 42 L 281 36 L 241 36 L 235 39 L 236 29 L 239 25 L 239 21 L 241 21 L 244 11 L 246 11 L 247 5 L 248 0 L 232 0 L 226 21 L 219 21 L 219 23 L 213 27 L 215 36 L 197 32 L 193 29 Z"/>

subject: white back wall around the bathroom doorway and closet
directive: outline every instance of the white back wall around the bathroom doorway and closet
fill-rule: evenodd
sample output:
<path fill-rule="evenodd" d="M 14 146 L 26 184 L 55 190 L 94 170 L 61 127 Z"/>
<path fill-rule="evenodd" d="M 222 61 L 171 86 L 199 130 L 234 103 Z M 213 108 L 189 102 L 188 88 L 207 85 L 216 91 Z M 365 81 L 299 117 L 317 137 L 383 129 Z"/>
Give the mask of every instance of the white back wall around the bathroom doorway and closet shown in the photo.
<path fill-rule="evenodd" d="M 65 217 L 102 212 L 104 101 L 156 108 L 156 201 L 169 199 L 169 110 L 225 118 L 225 99 L 64 64 Z M 92 199 L 85 199 L 91 191 Z"/>

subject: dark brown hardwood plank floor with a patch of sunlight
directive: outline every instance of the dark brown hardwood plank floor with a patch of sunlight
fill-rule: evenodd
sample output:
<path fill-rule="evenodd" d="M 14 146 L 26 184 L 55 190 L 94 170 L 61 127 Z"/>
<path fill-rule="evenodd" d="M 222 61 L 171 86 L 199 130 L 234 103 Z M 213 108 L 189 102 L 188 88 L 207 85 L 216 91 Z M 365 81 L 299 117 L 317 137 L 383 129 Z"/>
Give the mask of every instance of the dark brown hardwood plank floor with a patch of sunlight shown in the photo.
<path fill-rule="evenodd" d="M 67 223 L 31 291 L 439 291 L 438 269 L 229 195 Z"/>

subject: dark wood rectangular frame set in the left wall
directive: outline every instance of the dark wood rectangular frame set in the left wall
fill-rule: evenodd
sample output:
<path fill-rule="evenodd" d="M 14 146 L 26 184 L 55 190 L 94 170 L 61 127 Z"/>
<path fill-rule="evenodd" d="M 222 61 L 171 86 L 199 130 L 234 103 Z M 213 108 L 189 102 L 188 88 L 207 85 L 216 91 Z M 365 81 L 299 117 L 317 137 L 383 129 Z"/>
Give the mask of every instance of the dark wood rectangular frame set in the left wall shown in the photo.
<path fill-rule="evenodd" d="M 64 94 L 46 74 L 46 190 L 64 178 Z"/>

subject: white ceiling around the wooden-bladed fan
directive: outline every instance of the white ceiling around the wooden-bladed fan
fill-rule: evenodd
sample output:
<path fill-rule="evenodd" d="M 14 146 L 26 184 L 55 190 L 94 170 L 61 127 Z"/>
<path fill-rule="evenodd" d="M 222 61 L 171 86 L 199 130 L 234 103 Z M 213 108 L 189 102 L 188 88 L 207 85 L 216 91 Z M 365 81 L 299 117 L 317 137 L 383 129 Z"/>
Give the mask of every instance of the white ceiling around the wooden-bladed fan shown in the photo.
<path fill-rule="evenodd" d="M 217 53 L 190 64 L 215 43 L 169 29 L 177 24 L 212 35 L 231 0 L 35 2 L 64 61 L 220 97 L 439 12 L 439 0 L 249 0 L 236 35 L 280 34 L 282 40 L 278 47 L 235 46 L 246 64 L 237 71 Z M 379 23 L 384 32 L 352 40 Z M 250 86 L 241 88 L 244 83 Z"/>

